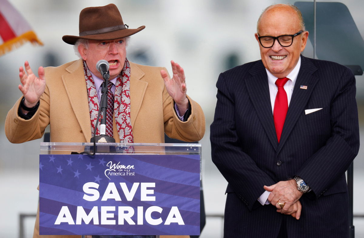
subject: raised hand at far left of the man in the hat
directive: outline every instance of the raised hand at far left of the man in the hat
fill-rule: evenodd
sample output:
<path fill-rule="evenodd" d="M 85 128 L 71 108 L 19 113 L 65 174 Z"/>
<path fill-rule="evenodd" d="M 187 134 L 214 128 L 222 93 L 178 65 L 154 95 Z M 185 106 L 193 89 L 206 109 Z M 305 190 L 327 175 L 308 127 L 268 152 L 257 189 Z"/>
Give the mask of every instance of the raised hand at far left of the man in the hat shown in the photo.
<path fill-rule="evenodd" d="M 34 107 L 40 99 L 46 88 L 46 79 L 44 78 L 44 69 L 42 66 L 38 68 L 38 76 L 35 76 L 29 66 L 28 61 L 25 61 L 24 67 L 19 68 L 20 83 L 18 88 L 24 95 L 24 104 L 26 107 Z M 22 109 L 24 112 L 24 110 Z"/>

